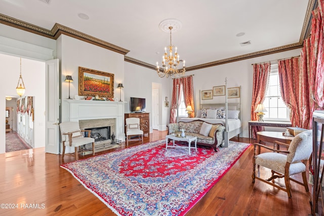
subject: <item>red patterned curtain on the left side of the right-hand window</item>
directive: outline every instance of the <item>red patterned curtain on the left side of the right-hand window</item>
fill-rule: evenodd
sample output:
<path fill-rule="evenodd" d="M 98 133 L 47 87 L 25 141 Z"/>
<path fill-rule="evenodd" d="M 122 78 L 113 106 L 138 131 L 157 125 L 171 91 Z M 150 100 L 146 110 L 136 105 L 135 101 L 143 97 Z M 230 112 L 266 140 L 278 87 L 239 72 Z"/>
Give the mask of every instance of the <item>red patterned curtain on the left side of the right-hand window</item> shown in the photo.
<path fill-rule="evenodd" d="M 270 75 L 270 62 L 253 65 L 253 92 L 251 104 L 251 120 L 256 121 L 257 114 L 254 110 L 258 104 L 263 103 L 267 91 L 267 84 Z M 263 131 L 262 126 L 252 126 L 252 138 L 256 138 L 258 131 Z"/>

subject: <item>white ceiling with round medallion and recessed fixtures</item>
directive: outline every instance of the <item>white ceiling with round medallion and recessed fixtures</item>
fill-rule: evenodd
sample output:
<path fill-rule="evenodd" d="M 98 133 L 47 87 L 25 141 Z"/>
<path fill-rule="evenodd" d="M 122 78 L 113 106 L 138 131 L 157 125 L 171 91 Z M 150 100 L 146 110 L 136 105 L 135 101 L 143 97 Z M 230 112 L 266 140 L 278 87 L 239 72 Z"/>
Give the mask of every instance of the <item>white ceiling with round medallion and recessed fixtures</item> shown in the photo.
<path fill-rule="evenodd" d="M 59 23 L 130 50 L 127 56 L 152 65 L 170 44 L 170 34 L 159 23 L 177 19 L 182 28 L 172 34 L 172 44 L 187 67 L 299 42 L 308 5 L 305 0 L 45 2 L 0 0 L 0 14 L 49 30 Z M 90 18 L 80 19 L 79 13 Z M 237 37 L 239 32 L 245 35 Z M 239 45 L 248 40 L 251 45 Z"/>

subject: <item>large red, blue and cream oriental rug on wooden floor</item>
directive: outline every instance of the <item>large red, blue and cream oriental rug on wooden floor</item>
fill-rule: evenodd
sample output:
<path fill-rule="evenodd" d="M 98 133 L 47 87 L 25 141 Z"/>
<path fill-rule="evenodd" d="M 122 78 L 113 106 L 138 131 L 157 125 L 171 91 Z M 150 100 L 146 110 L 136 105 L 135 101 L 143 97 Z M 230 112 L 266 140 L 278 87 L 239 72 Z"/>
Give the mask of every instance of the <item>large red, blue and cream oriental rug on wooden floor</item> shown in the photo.
<path fill-rule="evenodd" d="M 117 215 L 184 215 L 251 144 L 168 148 L 159 140 L 63 164 Z"/>

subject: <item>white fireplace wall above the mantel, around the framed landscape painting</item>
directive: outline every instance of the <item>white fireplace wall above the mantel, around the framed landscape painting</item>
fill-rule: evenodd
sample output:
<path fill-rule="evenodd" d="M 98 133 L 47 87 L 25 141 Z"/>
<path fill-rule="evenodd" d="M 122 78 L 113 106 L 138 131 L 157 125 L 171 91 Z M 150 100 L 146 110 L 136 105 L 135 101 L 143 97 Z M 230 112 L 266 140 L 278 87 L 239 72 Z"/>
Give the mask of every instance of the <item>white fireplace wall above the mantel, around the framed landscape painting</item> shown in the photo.
<path fill-rule="evenodd" d="M 70 96 L 78 95 L 78 67 L 99 70 L 114 74 L 114 98 L 118 96 L 118 83 L 124 82 L 124 55 L 94 46 L 88 42 L 61 35 L 57 40 L 57 55 L 60 59 L 60 84 L 61 84 L 61 120 L 68 121 L 68 98 L 69 83 L 65 82 L 66 75 L 71 75 L 73 82 L 70 83 Z M 121 93 L 123 100 L 123 90 Z"/>

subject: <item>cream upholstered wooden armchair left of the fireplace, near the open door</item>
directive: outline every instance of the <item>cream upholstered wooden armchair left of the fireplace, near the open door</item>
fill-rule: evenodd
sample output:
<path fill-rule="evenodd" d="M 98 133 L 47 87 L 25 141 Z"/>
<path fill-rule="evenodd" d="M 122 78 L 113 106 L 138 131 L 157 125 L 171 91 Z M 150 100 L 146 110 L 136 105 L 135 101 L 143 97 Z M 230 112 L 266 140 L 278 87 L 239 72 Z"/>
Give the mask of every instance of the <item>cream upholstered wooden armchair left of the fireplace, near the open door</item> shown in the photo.
<path fill-rule="evenodd" d="M 91 131 L 81 131 L 78 122 L 67 121 L 60 123 L 60 130 L 63 142 L 62 159 L 65 154 L 65 146 L 74 147 L 75 160 L 78 160 L 78 147 L 92 143 L 92 154 L 95 155 L 95 139 L 90 137 Z M 81 132 L 88 132 L 88 137 L 84 137 Z"/>

